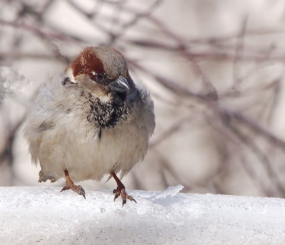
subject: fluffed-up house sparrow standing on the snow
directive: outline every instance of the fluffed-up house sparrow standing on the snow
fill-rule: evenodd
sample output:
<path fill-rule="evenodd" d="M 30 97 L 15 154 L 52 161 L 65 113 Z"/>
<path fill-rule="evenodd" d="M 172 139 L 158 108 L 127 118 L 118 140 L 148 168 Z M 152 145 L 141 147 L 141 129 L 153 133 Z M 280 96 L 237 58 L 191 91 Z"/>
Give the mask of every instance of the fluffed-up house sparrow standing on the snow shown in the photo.
<path fill-rule="evenodd" d="M 115 198 L 126 199 L 117 177 L 142 161 L 155 128 L 152 98 L 129 75 L 123 55 L 107 46 L 86 47 L 64 74 L 38 90 L 29 104 L 24 135 L 39 182 L 66 178 L 61 191 L 84 189 L 74 182 L 113 176 Z M 136 201 L 135 201 L 136 202 Z"/>

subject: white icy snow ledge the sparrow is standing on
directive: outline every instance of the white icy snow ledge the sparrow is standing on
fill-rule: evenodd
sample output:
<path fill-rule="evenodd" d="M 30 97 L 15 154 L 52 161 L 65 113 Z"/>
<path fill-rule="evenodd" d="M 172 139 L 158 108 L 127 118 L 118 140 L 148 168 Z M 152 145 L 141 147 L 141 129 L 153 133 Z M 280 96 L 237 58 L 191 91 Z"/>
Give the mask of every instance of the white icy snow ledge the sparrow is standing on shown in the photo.
<path fill-rule="evenodd" d="M 285 244 L 285 199 L 0 187 L 0 244 Z"/>

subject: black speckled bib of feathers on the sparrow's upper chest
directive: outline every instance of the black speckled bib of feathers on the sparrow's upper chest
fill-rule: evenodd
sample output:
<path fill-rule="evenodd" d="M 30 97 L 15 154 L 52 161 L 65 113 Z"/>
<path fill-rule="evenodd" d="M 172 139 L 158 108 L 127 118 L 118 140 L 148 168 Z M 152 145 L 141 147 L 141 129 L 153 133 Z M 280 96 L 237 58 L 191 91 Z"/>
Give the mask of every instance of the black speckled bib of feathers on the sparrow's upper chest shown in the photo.
<path fill-rule="evenodd" d="M 128 120 L 130 108 L 120 98 L 89 98 L 90 110 L 87 120 L 100 128 L 114 128 Z"/>

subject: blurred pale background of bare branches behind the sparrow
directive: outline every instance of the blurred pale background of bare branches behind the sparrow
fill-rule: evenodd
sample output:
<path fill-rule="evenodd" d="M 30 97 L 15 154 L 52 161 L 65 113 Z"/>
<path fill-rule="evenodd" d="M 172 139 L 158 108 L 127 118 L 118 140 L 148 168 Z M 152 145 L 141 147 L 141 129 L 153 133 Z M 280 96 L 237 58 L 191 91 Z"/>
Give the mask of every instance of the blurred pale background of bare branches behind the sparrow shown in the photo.
<path fill-rule="evenodd" d="M 155 102 L 127 189 L 285 198 L 284 39 L 282 0 L 0 0 L 0 186 L 64 186 L 38 183 L 26 105 L 85 46 L 109 45 Z"/>

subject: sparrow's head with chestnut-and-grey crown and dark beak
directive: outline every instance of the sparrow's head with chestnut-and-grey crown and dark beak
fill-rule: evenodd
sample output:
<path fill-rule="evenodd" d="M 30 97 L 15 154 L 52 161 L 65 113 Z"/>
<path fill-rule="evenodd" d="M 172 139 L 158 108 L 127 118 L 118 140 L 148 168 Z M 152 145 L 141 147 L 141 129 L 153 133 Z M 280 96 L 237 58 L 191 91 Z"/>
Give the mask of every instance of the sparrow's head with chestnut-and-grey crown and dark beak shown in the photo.
<path fill-rule="evenodd" d="M 126 61 L 119 51 L 108 46 L 86 47 L 65 74 L 71 83 L 101 98 L 130 90 Z"/>

